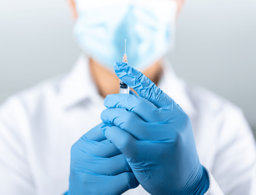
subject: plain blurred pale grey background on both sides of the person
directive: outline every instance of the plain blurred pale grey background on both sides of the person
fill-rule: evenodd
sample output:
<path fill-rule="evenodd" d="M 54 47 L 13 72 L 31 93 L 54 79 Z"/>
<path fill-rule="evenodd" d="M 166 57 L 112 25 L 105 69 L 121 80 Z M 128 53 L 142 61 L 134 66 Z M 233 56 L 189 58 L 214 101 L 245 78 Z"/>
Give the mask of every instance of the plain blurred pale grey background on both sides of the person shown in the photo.
<path fill-rule="evenodd" d="M 81 51 L 66 0 L 1 0 L 0 103 L 70 70 Z M 186 0 L 176 46 L 178 76 L 240 106 L 256 135 L 256 1 Z"/>

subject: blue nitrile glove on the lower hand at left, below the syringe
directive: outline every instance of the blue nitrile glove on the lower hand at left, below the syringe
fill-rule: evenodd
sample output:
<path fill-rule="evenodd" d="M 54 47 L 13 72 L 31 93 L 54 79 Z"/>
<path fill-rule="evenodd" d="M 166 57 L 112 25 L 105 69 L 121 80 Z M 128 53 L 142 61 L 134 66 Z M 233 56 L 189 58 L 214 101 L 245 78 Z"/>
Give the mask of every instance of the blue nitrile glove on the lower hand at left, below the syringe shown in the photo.
<path fill-rule="evenodd" d="M 104 137 L 101 126 L 103 123 L 71 148 L 67 195 L 120 195 L 139 185 L 126 158 Z"/>

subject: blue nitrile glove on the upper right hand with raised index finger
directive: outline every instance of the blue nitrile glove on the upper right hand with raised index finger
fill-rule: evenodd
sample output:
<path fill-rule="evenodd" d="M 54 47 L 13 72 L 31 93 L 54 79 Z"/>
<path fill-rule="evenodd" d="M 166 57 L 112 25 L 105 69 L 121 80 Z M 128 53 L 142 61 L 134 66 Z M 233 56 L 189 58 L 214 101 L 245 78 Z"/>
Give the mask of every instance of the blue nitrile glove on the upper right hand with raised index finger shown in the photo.
<path fill-rule="evenodd" d="M 197 155 L 191 121 L 175 101 L 124 62 L 117 76 L 139 96 L 111 94 L 101 113 L 105 137 L 124 154 L 142 187 L 152 195 L 202 195 L 207 171 Z"/>

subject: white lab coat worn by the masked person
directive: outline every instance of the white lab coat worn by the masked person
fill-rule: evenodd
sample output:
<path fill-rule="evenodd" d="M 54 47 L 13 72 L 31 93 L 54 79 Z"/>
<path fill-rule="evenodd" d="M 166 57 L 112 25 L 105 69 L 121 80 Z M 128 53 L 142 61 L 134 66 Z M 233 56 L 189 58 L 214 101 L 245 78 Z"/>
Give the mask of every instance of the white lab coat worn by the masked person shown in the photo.
<path fill-rule="evenodd" d="M 0 107 L 0 194 L 61 195 L 69 188 L 70 148 L 101 122 L 105 109 L 81 55 L 72 71 L 40 83 Z M 167 68 L 160 89 L 189 115 L 200 162 L 210 177 L 205 195 L 256 195 L 254 138 L 242 111 Z M 97 186 L 95 186 L 97 188 Z M 141 186 L 126 195 L 148 194 Z"/>

